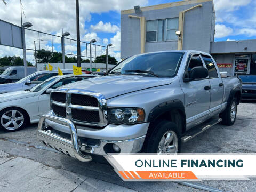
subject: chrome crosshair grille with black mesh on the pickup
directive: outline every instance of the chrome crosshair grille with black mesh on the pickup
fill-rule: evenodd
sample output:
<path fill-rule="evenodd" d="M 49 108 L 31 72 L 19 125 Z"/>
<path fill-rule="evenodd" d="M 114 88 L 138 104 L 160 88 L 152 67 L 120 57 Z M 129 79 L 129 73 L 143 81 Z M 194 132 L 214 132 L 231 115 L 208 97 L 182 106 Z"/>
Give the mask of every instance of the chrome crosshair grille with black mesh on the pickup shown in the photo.
<path fill-rule="evenodd" d="M 107 111 L 106 100 L 103 95 L 101 97 L 98 95 L 100 94 L 95 94 L 93 97 L 94 95 L 77 94 L 77 92 L 71 93 L 69 91 L 52 92 L 53 113 L 71 119 L 75 124 L 105 126 L 107 125 L 107 120 L 104 117 L 104 111 Z M 102 107 L 102 103 L 105 108 Z"/>

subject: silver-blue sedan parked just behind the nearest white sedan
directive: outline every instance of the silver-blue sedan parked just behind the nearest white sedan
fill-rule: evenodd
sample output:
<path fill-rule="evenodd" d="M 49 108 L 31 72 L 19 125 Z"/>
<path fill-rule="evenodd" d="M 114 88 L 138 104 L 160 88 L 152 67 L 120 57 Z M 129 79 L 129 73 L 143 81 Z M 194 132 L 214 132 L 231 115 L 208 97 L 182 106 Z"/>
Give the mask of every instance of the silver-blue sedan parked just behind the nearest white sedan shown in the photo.
<path fill-rule="evenodd" d="M 62 70 L 63 74 L 73 74 L 73 70 Z M 13 91 L 27 90 L 45 81 L 46 79 L 58 75 L 58 70 L 36 71 L 15 83 L 0 84 L 0 94 Z"/>

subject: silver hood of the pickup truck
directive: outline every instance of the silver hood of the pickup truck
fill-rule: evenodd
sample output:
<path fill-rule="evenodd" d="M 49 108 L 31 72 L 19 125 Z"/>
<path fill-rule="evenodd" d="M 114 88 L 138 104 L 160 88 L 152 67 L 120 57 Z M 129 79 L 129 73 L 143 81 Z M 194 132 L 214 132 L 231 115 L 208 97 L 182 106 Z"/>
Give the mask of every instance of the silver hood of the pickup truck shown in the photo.
<path fill-rule="evenodd" d="M 60 87 L 78 91 L 101 93 L 106 99 L 125 93 L 171 84 L 171 78 L 145 77 L 139 75 L 111 75 L 85 79 Z"/>

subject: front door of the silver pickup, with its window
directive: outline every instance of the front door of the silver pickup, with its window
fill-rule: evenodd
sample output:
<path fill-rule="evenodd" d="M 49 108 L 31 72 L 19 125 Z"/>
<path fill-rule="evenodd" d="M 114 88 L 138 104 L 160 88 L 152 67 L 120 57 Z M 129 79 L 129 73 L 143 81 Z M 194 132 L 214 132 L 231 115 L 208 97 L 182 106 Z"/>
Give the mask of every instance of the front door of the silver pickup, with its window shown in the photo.
<path fill-rule="evenodd" d="M 190 55 L 185 73 L 189 76 L 191 69 L 197 66 L 204 67 L 200 55 Z M 210 82 L 208 78 L 193 79 L 189 82 L 184 82 L 181 79 L 180 82 L 185 95 L 187 129 L 190 129 L 205 121 L 209 116 Z"/>

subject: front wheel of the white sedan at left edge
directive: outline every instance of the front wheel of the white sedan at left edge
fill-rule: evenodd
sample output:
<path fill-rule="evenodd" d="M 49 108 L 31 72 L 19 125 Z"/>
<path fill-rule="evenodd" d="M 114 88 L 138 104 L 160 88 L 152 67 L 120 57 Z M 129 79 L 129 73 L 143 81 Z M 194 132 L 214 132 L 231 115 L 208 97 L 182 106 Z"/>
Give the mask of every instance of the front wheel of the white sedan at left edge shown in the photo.
<path fill-rule="evenodd" d="M 0 128 L 5 131 L 17 131 L 28 123 L 28 116 L 22 109 L 9 107 L 0 112 Z"/>

